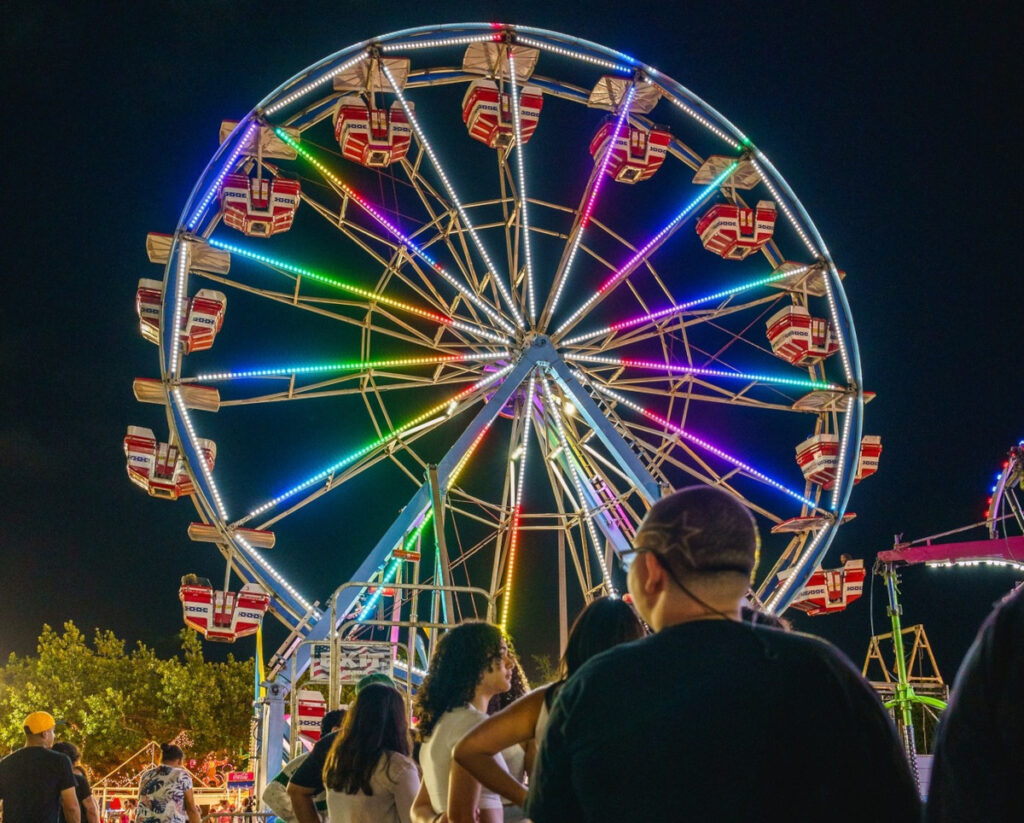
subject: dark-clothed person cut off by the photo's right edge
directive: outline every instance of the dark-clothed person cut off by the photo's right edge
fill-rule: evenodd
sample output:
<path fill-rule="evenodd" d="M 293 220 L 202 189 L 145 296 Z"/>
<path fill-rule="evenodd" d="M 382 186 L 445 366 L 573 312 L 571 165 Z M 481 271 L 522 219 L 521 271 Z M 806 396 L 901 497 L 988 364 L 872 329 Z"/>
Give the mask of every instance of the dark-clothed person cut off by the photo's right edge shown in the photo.
<path fill-rule="evenodd" d="M 1024 784 L 1024 586 L 988 616 L 939 723 L 928 823 L 1020 819 Z"/>

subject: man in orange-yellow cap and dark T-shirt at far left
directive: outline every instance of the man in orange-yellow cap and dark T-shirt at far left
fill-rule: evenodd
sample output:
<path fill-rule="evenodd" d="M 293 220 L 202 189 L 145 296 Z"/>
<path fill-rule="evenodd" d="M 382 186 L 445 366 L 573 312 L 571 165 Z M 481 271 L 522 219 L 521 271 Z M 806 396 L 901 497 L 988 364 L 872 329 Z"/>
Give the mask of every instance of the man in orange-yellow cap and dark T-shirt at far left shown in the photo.
<path fill-rule="evenodd" d="M 51 751 L 56 721 L 48 711 L 25 719 L 25 746 L 0 761 L 4 823 L 81 823 L 75 773 L 67 755 Z"/>

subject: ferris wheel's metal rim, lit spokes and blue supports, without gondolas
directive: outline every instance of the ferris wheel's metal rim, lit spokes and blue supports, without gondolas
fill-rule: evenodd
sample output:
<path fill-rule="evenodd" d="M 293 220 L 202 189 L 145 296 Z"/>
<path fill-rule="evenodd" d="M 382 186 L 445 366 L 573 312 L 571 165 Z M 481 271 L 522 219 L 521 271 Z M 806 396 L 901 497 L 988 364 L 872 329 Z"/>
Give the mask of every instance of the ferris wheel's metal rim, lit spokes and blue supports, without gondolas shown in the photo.
<path fill-rule="evenodd" d="M 653 99 L 656 101 L 660 96 L 669 100 L 675 107 L 673 112 L 679 110 L 684 118 L 689 118 L 684 122 L 698 131 L 699 139 L 714 139 L 729 153 L 723 161 L 725 165 L 709 166 L 713 160 L 710 155 L 698 153 L 674 137 L 668 149 L 674 167 L 698 174 L 701 169 L 711 168 L 714 173 L 696 190 L 696 198 L 693 199 L 694 192 L 688 192 L 684 200 L 686 207 L 643 245 L 627 240 L 632 229 L 613 229 L 603 214 L 595 212 L 610 149 L 595 156 L 579 206 L 567 206 L 526 192 L 523 172 L 526 149 L 524 141 L 517 138 L 507 150 L 497 151 L 499 196 L 463 203 L 456 196 L 426 131 L 416 121 L 403 90 L 443 89 L 468 83 L 479 75 L 442 66 L 418 69 L 408 77 L 395 78 L 391 73 L 394 66 L 383 55 L 418 55 L 433 49 L 444 52 L 474 43 L 495 44 L 498 62 L 494 77 L 510 90 L 513 106 L 518 106 L 520 82 L 526 82 L 515 63 L 516 59 L 525 59 L 525 52 L 517 49 L 536 51 L 545 59 L 568 61 L 594 77 L 611 72 L 621 81 L 615 87 L 620 96 L 609 94 L 606 104 L 589 101 L 587 89 L 579 82 L 540 75 L 529 82 L 540 87 L 547 98 L 609 111 L 615 124 L 614 137 L 624 128 L 651 127 L 652 121 L 645 116 L 649 110 L 634 111 L 631 101 L 637 95 L 656 92 Z M 388 94 L 397 97 L 395 105 L 400 103 L 414 124 L 416 150 L 400 163 L 404 175 L 401 183 L 403 191 L 419 204 L 426 216 L 419 218 L 416 230 L 408 233 L 391 222 L 397 222 L 398 218 L 410 222 L 397 194 L 392 215 L 359 194 L 334 171 L 338 167 L 336 158 L 325 162 L 322 158 L 328 154 L 326 150 L 297 136 L 331 116 L 338 99 L 338 94 L 330 93 L 332 81 L 346 77 L 346 72 L 358 71 L 368 78 L 371 91 L 374 83 L 380 83 Z M 610 83 L 606 85 L 611 87 Z M 325 90 L 326 97 L 322 93 Z M 517 129 L 518 124 L 517 119 Z M 723 150 L 721 147 L 718 150 Z M 227 243 L 214 234 L 221 223 L 215 198 L 224 176 L 240 171 L 276 175 L 282 169 L 291 170 L 276 162 L 289 157 L 303 170 L 301 173 L 312 168 L 317 175 L 314 185 L 304 183 L 302 202 L 308 207 L 305 211 L 324 218 L 349 244 L 346 248 L 354 248 L 366 256 L 378 271 L 373 286 L 346 284 L 311 266 L 256 253 L 251 246 Z M 348 171 L 345 167 L 346 174 Z M 748 175 L 750 185 L 737 183 L 740 172 Z M 393 184 L 394 178 L 391 180 Z M 605 189 L 612 185 L 608 182 Z M 670 289 L 679 275 L 674 274 L 670 280 L 659 273 L 660 266 L 656 268 L 652 258 L 659 251 L 665 254 L 664 247 L 694 216 L 698 206 L 713 198 L 743 205 L 737 188 L 754 186 L 764 188 L 777 204 L 780 221 L 784 216 L 783 227 L 788 235 L 783 239 L 779 232 L 778 242 L 788 240 L 795 244 L 806 262 L 788 263 L 772 240 L 757 256 L 771 265 L 768 275 L 762 270 L 760 276 L 739 285 L 729 277 L 726 283 L 732 288 L 722 289 L 719 281 L 717 291 L 707 297 L 681 299 L 687 295 L 674 294 Z M 480 235 L 484 240 L 503 239 L 507 270 L 494 265 Z M 551 266 L 554 273 L 550 291 L 538 313 L 530 248 L 532 244 L 538 252 L 544 248 L 544 242 L 554 243 L 560 251 L 553 255 L 557 265 Z M 431 250 L 429 254 L 427 250 Z M 612 262 L 614 255 L 624 250 L 629 260 L 616 265 Z M 431 254 L 452 261 L 449 268 Z M 218 265 L 204 262 L 210 255 L 219 255 L 222 261 L 229 258 L 244 266 L 257 266 L 261 272 L 279 278 L 284 276 L 288 286 L 278 290 L 243 276 L 228 277 L 226 262 Z M 596 266 L 606 279 L 574 313 L 559 314 L 557 304 L 563 293 L 570 294 L 565 285 L 578 256 L 586 259 L 588 266 Z M 670 261 L 669 265 L 680 264 Z M 322 318 L 340 321 L 342 328 L 358 335 L 360 359 L 331 367 L 289 366 L 186 375 L 179 329 L 190 277 L 228 287 L 247 297 L 261 298 L 283 310 L 306 312 L 303 316 L 310 317 L 310 321 Z M 638 306 L 642 312 L 639 317 L 597 331 L 573 332 L 584 319 L 603 319 L 604 315 L 596 313 L 599 306 L 603 304 L 606 310 L 610 303 L 605 298 L 624 284 L 630 294 L 618 297 Z M 325 286 L 335 290 L 329 294 L 340 290 L 345 297 L 325 297 L 315 291 Z M 440 289 L 454 289 L 454 297 L 444 297 Z M 394 297 L 395 293 L 401 295 L 400 300 Z M 425 308 L 411 306 L 410 298 L 420 301 Z M 666 299 L 669 305 L 658 308 Z M 752 374 L 732 361 L 732 354 L 742 349 L 752 357 L 778 363 L 772 360 L 763 343 L 753 340 L 749 330 L 772 308 L 788 304 L 825 307 L 824 313 L 838 341 L 841 378 L 829 380 L 823 362 L 806 366 L 805 376 L 798 378 L 792 373 L 782 377 L 764 372 Z M 436 330 L 424 331 L 425 321 L 436 324 Z M 570 332 L 573 336 L 569 336 Z M 708 344 L 698 340 L 699 333 L 719 334 L 724 342 Z M 374 360 L 371 354 L 381 340 L 419 347 L 433 356 L 401 359 L 392 355 Z M 629 346 L 639 347 L 633 351 L 648 359 L 615 354 Z M 673 356 L 674 346 L 684 352 L 682 363 Z M 650 359 L 651 352 L 657 362 Z M 403 374 L 401 370 L 411 364 L 430 365 L 432 374 L 429 377 Z M 435 594 L 430 619 L 420 624 L 452 624 L 460 611 L 458 588 L 453 583 L 455 572 L 461 570 L 469 576 L 466 569 L 470 557 L 483 547 L 493 547 L 489 586 L 477 588 L 489 597 L 486 616 L 490 619 L 497 617 L 495 600 L 501 598 L 504 625 L 520 532 L 554 531 L 560 564 L 559 629 L 564 641 L 567 556 L 572 558 L 585 599 L 602 592 L 614 593 L 615 556 L 628 548 L 632 530 L 650 504 L 680 480 L 695 479 L 725 488 L 768 525 L 790 522 L 793 514 L 798 515 L 796 519 L 817 521 L 814 527 L 802 531 L 791 529 L 792 536 L 783 537 L 786 545 L 771 559 L 774 565 L 756 590 L 768 610 L 783 611 L 820 563 L 843 521 L 855 482 L 864 401 L 856 335 L 841 273 L 796 194 L 750 138 L 699 97 L 652 67 L 578 38 L 525 27 L 425 27 L 365 41 L 300 73 L 261 101 L 223 140 L 178 221 L 164 274 L 160 365 L 164 392 L 161 399 L 166 405 L 172 441 L 180 447 L 196 486 L 194 501 L 200 517 L 216 528 L 221 538 L 218 548 L 239 577 L 257 582 L 271 593 L 271 611 L 291 633 L 271 662 L 263 700 L 260 771 L 264 778 L 283 760 L 288 734 L 286 700 L 295 677 L 300 677 L 309 664 L 309 643 L 338 640 L 343 624 L 366 636 L 382 622 L 417 623 L 408 619 L 415 604 L 399 602 L 398 598 L 390 620 L 367 619 L 374 608 L 380 607 L 380 597 L 369 593 L 370 586 L 379 591 L 394 581 L 401 591 L 432 590 Z M 342 372 L 342 376 L 331 375 L 332 369 Z M 632 374 L 636 370 L 650 374 L 637 377 Z M 303 385 L 302 380 L 308 375 L 313 375 L 315 382 Z M 193 401 L 191 392 L 206 383 L 224 381 L 238 385 L 254 379 L 285 381 L 287 388 L 223 400 L 218 395 L 215 407 L 354 396 L 364 401 L 377 437 L 366 448 L 332 464 L 244 517 L 232 519 L 212 471 L 200 457 L 199 435 L 190 414 L 191 408 L 200 406 Z M 730 381 L 736 380 L 741 388 L 731 386 Z M 410 389 L 430 390 L 436 398 L 436 391 L 445 387 L 461 387 L 461 390 L 409 423 L 395 425 L 394 416 L 399 412 L 394 405 L 389 408 L 385 398 L 404 395 Z M 799 392 L 798 396 L 793 396 L 793 392 Z M 480 401 L 482 407 L 454 442 L 449 441 L 451 445 L 439 461 L 425 460 L 414 450 L 413 444 L 420 438 L 425 438 L 423 442 L 428 447 L 436 448 L 436 443 L 429 445 L 430 437 Z M 656 410 L 648 408 L 647 403 L 657 403 Z M 564 410 L 566 404 L 571 405 L 571 413 Z M 698 422 L 700 419 L 692 409 L 700 406 L 724 409 L 726 405 L 766 415 L 796 413 L 793 418 L 813 421 L 816 434 L 836 435 L 838 454 L 831 491 L 825 493 L 809 481 L 802 490 L 794 490 L 694 434 L 687 416 Z M 460 479 L 460 473 L 500 416 L 512 419 L 509 468 L 504 487 L 488 499 L 472 493 L 468 481 Z M 554 501 L 551 505 L 555 510 L 546 515 L 522 510 L 526 477 L 523 465 L 531 430 Z M 771 438 L 758 430 L 755 439 L 760 443 Z M 785 441 L 786 445 L 788 442 Z M 521 459 L 516 457 L 517 452 Z M 397 466 L 403 476 L 414 480 L 416 490 L 351 574 L 351 581 L 357 582 L 343 583 L 338 589 L 327 614 L 318 604 L 306 601 L 239 529 L 255 526 L 269 530 L 289 515 L 382 463 Z M 796 500 L 797 511 L 779 514 L 771 503 L 766 503 L 766 495 L 787 497 L 788 504 Z M 483 523 L 488 534 L 469 550 L 450 554 L 445 514 L 453 520 L 463 518 Z M 430 520 L 436 545 L 434 568 L 428 569 L 421 579 L 420 564 L 416 562 L 412 564 L 411 579 L 404 579 L 402 564 L 394 552 L 413 544 L 419 548 Z M 592 562 L 591 552 L 596 563 Z M 793 573 L 784 583 L 778 583 L 775 575 L 783 568 L 792 569 Z M 411 668 L 415 665 L 414 631 L 415 627 L 410 630 L 408 640 Z M 407 674 L 412 682 L 414 673 Z"/>

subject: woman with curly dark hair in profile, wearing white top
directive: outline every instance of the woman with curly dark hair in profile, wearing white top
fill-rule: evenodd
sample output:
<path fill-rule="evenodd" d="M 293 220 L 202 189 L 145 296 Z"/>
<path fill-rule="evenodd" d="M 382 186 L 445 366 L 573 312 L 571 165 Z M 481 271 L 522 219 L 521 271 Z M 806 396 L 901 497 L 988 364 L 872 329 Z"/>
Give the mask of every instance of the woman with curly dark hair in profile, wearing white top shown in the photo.
<path fill-rule="evenodd" d="M 502 799 L 480 789 L 452 760 L 456 743 L 486 720 L 487 704 L 512 685 L 512 662 L 502 631 L 490 623 L 457 625 L 437 643 L 416 694 L 423 783 L 414 823 L 501 823 Z M 501 768 L 505 767 L 501 754 Z"/>

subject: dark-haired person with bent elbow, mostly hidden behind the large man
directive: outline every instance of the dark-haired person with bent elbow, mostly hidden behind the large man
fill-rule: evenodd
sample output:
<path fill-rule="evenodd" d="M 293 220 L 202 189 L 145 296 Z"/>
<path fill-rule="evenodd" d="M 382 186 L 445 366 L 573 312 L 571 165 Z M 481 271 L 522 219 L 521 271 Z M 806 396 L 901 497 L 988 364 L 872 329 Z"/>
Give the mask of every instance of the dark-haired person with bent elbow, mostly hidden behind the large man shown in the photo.
<path fill-rule="evenodd" d="M 485 788 L 521 807 L 526 787 L 501 769 L 495 755 L 510 746 L 540 744 L 548 711 L 565 681 L 587 660 L 606 649 L 638 640 L 644 630 L 639 618 L 617 598 L 602 597 L 580 612 L 562 654 L 559 679 L 527 694 L 472 729 L 455 747 L 456 762 Z"/>

